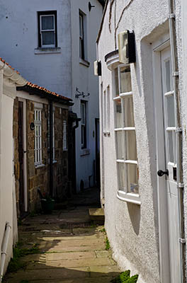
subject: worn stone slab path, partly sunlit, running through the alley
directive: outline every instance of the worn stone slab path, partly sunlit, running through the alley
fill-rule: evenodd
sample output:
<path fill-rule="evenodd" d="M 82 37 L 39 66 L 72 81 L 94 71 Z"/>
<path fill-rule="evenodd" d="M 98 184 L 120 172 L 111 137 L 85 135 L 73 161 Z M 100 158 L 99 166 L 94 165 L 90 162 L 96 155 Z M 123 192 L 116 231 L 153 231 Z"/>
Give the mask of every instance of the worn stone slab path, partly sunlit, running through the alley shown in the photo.
<path fill-rule="evenodd" d="M 90 207 L 90 206 L 89 206 Z M 69 207 L 28 217 L 19 226 L 25 267 L 8 273 L 6 283 L 109 283 L 120 272 L 106 250 L 103 226 L 91 226 L 89 207 Z"/>

